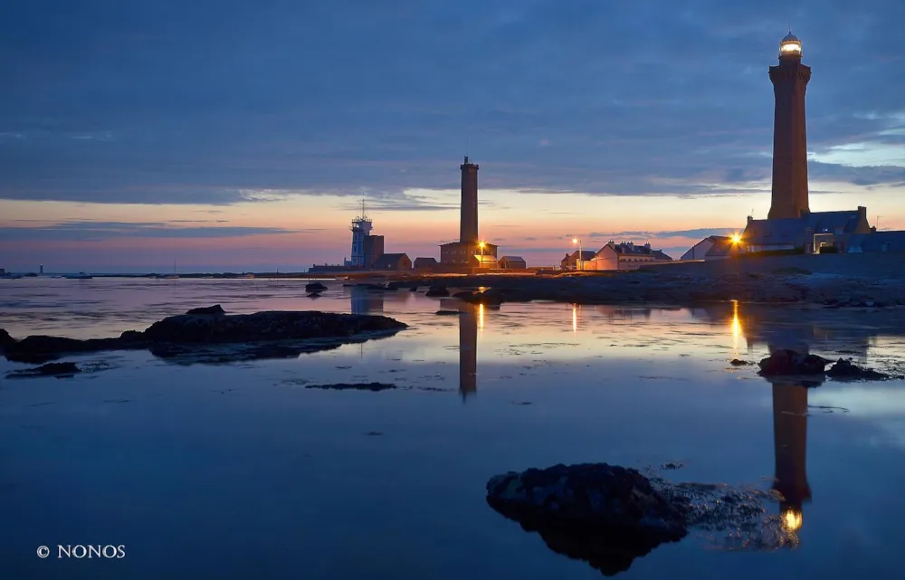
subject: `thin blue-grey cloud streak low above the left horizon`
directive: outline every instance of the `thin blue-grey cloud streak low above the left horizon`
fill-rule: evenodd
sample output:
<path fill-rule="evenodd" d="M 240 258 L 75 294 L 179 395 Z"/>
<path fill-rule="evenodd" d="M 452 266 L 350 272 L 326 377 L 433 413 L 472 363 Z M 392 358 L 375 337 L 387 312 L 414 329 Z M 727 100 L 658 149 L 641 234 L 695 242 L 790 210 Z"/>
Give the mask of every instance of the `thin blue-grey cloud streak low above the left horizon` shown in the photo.
<path fill-rule="evenodd" d="M 43 226 L 0 227 L 0 242 L 85 242 L 114 238 L 227 238 L 319 230 L 287 230 L 269 227 L 207 226 L 173 227 L 163 222 L 71 221 Z"/>

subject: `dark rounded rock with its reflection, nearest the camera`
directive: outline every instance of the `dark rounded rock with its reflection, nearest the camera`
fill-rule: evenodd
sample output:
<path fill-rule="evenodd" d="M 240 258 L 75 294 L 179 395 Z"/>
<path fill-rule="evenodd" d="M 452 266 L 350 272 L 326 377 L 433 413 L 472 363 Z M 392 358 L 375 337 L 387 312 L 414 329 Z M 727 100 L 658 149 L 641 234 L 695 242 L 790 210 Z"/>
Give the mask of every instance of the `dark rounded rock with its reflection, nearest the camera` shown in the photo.
<path fill-rule="evenodd" d="M 537 531 L 552 550 L 586 560 L 605 575 L 688 533 L 681 511 L 647 478 L 606 463 L 498 475 L 487 483 L 487 502 Z"/>

